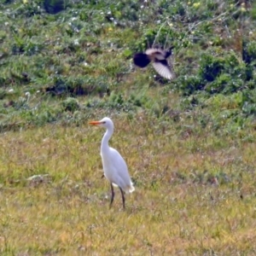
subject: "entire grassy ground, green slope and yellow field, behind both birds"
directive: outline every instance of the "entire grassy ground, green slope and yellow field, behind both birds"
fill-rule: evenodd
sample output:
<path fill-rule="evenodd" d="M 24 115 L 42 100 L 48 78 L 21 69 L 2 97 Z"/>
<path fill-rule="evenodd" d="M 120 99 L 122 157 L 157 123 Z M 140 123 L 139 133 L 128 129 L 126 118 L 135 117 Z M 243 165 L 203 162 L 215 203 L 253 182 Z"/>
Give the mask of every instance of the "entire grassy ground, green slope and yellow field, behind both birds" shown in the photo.
<path fill-rule="evenodd" d="M 255 253 L 255 80 L 244 79 L 241 59 L 241 38 L 256 37 L 253 7 L 77 2 L 49 15 L 34 3 L 1 6 L 1 254 Z M 154 41 L 176 45 L 172 83 L 130 67 L 131 54 Z M 194 83 L 204 55 L 230 53 L 242 86 L 230 66 L 231 92 L 220 79 Z M 125 212 L 118 191 L 108 209 L 103 131 L 87 125 L 104 115 L 136 185 Z M 27 180 L 35 174 L 49 177 Z"/>

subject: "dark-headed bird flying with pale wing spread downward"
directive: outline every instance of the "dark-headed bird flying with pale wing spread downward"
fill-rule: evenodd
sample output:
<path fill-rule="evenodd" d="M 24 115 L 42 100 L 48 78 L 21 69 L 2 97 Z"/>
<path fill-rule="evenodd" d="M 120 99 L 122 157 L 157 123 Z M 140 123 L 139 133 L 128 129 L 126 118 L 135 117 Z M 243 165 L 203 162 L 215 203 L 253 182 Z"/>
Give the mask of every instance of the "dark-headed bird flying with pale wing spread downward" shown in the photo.
<path fill-rule="evenodd" d="M 163 78 L 174 79 L 175 74 L 169 66 L 167 58 L 172 55 L 171 47 L 168 50 L 164 49 L 147 49 L 145 53 L 137 53 L 133 56 L 133 62 L 137 67 L 147 67 L 150 61 L 157 73 Z"/>

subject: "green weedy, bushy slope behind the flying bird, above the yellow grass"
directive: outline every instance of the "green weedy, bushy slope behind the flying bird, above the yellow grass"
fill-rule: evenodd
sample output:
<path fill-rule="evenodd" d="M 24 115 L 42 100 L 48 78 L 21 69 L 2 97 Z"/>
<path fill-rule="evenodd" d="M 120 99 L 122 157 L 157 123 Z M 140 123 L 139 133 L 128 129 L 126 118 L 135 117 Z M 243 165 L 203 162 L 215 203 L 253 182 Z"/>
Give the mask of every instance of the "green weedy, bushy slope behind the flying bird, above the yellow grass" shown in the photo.
<path fill-rule="evenodd" d="M 65 121 L 74 109 L 159 115 L 172 108 L 168 91 L 180 93 L 178 108 L 187 108 L 184 100 L 207 108 L 207 99 L 225 96 L 236 108 L 232 120 L 256 113 L 253 2 L 23 0 L 2 1 L 1 9 L 3 130 Z M 152 45 L 175 47 L 171 83 L 132 67 L 132 55 Z M 166 104 L 151 109 L 159 96 L 145 87 L 162 85 Z M 68 97 L 79 97 L 80 107 L 67 107 Z"/>

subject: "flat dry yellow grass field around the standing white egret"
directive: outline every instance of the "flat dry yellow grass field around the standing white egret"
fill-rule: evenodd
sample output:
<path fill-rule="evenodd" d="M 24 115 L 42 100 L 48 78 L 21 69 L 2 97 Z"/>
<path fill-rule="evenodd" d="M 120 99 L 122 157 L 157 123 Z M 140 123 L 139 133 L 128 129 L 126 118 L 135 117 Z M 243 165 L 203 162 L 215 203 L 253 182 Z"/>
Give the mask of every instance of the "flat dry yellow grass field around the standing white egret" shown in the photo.
<path fill-rule="evenodd" d="M 2 135 L 2 255 L 253 255 L 253 143 L 184 135 L 142 114 L 113 120 L 110 143 L 136 186 L 125 212 L 119 194 L 108 208 L 104 130 L 48 125 Z M 49 177 L 26 180 L 36 174 Z"/>

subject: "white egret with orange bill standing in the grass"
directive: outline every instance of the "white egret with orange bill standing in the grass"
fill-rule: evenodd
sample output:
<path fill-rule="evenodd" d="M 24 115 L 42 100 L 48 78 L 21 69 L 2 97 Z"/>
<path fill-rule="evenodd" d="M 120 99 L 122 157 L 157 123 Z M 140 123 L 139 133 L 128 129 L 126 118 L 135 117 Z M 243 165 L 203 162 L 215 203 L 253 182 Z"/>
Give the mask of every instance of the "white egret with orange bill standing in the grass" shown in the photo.
<path fill-rule="evenodd" d="M 112 206 L 114 197 L 113 186 L 117 186 L 121 191 L 123 207 L 125 209 L 124 191 L 125 193 L 131 193 L 134 190 L 134 187 L 125 160 L 116 149 L 108 146 L 108 141 L 113 135 L 113 121 L 108 117 L 105 117 L 100 121 L 91 121 L 89 124 L 99 125 L 107 129 L 102 138 L 101 155 L 104 175 L 108 178 L 111 185 L 112 194 L 110 207 Z"/>

